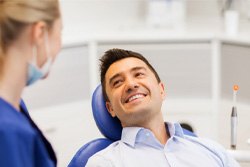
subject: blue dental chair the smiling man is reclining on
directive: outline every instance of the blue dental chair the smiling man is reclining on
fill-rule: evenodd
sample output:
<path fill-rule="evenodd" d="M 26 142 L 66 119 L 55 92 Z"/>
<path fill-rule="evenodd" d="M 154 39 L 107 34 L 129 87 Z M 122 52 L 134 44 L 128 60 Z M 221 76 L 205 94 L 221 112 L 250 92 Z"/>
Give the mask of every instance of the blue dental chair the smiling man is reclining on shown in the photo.
<path fill-rule="evenodd" d="M 95 89 L 92 95 L 92 112 L 96 125 L 105 138 L 95 139 L 83 145 L 74 155 L 68 167 L 84 167 L 92 155 L 121 139 L 121 123 L 116 117 L 111 117 L 107 111 L 101 85 Z M 186 129 L 183 131 L 186 135 L 196 136 Z"/>

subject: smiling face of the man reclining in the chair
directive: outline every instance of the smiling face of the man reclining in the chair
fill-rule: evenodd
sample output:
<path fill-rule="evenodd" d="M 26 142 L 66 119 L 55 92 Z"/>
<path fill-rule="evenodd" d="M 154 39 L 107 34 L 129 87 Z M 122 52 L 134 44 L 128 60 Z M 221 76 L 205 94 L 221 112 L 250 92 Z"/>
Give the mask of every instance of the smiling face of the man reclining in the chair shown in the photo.
<path fill-rule="evenodd" d="M 161 114 L 164 85 L 140 59 L 125 58 L 113 63 L 106 72 L 106 106 L 123 127 L 140 126 Z"/>

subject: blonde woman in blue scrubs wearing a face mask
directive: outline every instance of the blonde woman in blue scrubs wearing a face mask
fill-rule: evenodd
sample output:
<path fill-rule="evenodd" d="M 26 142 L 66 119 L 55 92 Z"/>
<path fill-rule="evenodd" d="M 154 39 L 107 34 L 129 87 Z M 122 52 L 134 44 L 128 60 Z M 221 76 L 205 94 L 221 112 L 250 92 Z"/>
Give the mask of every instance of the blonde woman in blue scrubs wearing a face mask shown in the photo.
<path fill-rule="evenodd" d="M 0 166 L 54 167 L 50 143 L 21 101 L 61 47 L 58 0 L 0 0 Z"/>

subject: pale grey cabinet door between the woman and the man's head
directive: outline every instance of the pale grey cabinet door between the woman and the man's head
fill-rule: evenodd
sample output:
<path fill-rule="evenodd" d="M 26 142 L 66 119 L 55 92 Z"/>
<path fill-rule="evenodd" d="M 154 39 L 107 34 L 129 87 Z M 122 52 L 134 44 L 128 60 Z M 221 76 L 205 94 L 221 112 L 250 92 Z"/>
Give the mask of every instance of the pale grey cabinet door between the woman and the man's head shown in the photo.
<path fill-rule="evenodd" d="M 63 48 L 45 80 L 27 87 L 23 94 L 29 109 L 90 98 L 88 47 Z"/>

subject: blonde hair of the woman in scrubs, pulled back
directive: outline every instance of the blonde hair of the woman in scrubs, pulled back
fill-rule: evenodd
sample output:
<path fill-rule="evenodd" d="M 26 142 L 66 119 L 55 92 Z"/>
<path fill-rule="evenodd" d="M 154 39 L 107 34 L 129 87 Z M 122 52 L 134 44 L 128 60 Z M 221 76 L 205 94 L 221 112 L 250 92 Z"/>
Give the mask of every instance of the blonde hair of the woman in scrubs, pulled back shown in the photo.
<path fill-rule="evenodd" d="M 38 21 L 51 27 L 60 17 L 58 0 L 0 0 L 0 67 L 8 46 Z"/>

